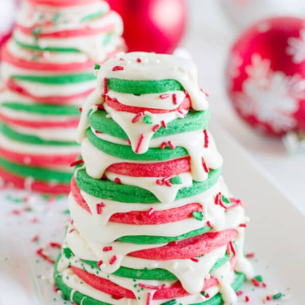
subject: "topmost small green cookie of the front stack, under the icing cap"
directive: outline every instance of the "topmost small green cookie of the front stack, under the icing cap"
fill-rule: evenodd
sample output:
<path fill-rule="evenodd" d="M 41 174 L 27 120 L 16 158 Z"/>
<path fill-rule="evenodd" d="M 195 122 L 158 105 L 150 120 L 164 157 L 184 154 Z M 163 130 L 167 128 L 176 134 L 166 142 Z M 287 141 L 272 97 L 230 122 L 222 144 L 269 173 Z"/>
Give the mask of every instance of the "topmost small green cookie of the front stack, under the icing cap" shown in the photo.
<path fill-rule="evenodd" d="M 175 90 L 184 91 L 184 88 L 180 82 L 175 79 L 129 80 L 120 78 L 108 78 L 107 86 L 110 90 L 120 93 L 131 93 L 134 95 L 163 93 Z"/>

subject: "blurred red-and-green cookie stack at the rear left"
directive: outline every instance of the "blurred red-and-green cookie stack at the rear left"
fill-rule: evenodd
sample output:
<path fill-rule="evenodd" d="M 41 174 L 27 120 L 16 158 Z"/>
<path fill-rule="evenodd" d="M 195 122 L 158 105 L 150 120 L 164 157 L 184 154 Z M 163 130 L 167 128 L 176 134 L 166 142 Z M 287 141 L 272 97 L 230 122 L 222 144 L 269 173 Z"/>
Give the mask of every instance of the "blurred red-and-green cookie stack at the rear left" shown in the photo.
<path fill-rule="evenodd" d="M 105 1 L 22 3 L 1 54 L 0 176 L 7 183 L 69 192 L 78 108 L 96 87 L 95 63 L 122 48 L 122 29 Z"/>

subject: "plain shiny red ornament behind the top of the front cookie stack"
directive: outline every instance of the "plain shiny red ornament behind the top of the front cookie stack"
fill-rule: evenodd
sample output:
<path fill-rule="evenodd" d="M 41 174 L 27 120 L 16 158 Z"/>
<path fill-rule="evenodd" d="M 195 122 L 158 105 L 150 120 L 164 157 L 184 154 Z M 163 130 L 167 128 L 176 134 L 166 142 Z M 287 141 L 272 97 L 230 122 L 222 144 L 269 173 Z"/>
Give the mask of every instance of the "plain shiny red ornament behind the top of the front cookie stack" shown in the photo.
<path fill-rule="evenodd" d="M 184 0 L 108 0 L 124 22 L 128 51 L 172 53 L 185 29 Z"/>

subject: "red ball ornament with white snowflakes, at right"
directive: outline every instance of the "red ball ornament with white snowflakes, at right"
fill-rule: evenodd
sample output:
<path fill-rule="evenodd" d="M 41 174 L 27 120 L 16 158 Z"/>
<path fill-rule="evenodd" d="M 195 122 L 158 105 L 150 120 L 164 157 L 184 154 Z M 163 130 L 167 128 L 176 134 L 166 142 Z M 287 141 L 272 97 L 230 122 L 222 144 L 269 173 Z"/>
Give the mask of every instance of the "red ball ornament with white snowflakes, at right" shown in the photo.
<path fill-rule="evenodd" d="M 275 17 L 249 27 L 226 69 L 237 113 L 270 135 L 305 130 L 305 19 Z"/>

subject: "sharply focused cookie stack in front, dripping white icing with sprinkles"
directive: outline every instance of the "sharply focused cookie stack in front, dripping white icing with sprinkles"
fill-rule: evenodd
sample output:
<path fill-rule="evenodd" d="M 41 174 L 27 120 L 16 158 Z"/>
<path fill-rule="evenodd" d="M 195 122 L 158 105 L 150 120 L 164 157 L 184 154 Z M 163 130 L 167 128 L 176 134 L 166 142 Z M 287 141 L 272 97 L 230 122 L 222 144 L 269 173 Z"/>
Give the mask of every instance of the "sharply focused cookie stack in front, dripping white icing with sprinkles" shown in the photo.
<path fill-rule="evenodd" d="M 253 276 L 246 218 L 220 177 L 196 67 L 132 52 L 97 79 L 77 131 L 56 289 L 81 305 L 235 304 Z"/>

